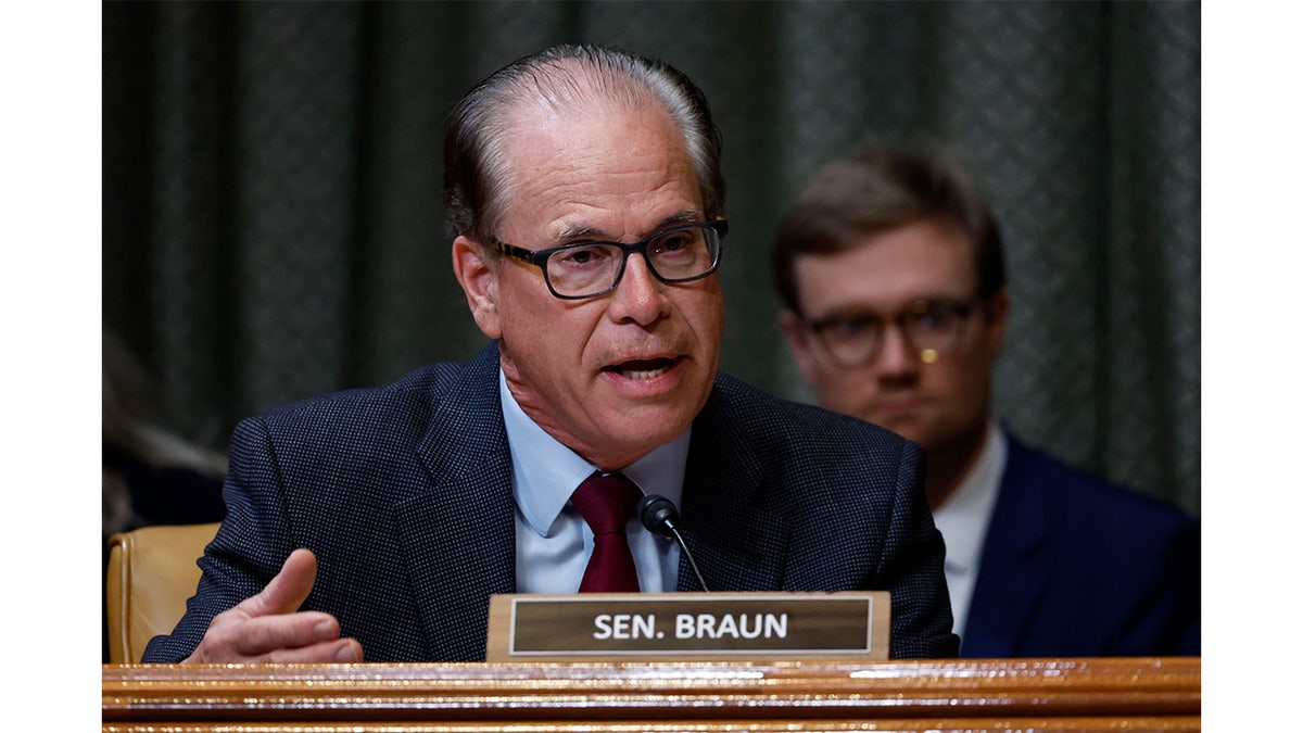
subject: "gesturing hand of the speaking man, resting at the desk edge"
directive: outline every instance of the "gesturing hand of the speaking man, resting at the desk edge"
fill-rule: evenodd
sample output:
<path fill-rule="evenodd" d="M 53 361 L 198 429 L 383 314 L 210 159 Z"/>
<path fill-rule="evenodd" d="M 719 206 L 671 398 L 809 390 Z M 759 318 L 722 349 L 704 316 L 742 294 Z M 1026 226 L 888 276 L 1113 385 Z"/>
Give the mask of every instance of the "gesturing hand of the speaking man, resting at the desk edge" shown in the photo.
<path fill-rule="evenodd" d="M 339 638 L 328 613 L 298 612 L 317 582 L 317 556 L 296 549 L 261 593 L 212 618 L 186 663 L 362 661 L 357 639 Z"/>

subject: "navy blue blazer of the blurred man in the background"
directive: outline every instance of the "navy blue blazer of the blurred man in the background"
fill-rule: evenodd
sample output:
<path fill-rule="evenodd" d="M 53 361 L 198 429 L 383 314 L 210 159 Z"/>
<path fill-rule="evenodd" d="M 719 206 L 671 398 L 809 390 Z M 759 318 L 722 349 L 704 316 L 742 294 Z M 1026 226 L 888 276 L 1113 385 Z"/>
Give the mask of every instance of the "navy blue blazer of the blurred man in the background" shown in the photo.
<path fill-rule="evenodd" d="M 964 657 L 1200 653 L 1199 523 L 1010 436 Z"/>

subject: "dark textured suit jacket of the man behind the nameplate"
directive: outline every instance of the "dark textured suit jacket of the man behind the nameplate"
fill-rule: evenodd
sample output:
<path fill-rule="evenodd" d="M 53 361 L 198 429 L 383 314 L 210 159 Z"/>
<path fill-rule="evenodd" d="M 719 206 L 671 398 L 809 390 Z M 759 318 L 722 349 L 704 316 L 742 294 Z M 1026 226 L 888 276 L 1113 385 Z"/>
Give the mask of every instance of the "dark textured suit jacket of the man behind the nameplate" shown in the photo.
<path fill-rule="evenodd" d="M 887 590 L 891 655 L 954 656 L 921 464 L 893 433 L 719 374 L 693 423 L 681 531 L 713 591 Z M 300 546 L 318 558 L 304 609 L 335 614 L 367 660 L 483 660 L 489 596 L 515 592 L 511 486 L 496 344 L 245 420 L 197 595 L 145 660 L 188 656 Z M 696 590 L 685 563 L 679 590 Z"/>

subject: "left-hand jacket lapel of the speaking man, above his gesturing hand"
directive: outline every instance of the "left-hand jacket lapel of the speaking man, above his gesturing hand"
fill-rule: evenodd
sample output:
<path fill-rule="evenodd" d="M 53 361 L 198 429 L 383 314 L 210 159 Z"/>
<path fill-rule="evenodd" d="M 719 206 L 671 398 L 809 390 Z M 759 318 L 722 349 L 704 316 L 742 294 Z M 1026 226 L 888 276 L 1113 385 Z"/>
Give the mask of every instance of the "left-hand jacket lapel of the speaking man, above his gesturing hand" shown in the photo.
<path fill-rule="evenodd" d="M 482 660 L 489 596 L 516 588 L 515 500 L 496 344 L 442 394 L 420 447 L 430 486 L 395 506 L 395 524 L 431 659 Z"/>

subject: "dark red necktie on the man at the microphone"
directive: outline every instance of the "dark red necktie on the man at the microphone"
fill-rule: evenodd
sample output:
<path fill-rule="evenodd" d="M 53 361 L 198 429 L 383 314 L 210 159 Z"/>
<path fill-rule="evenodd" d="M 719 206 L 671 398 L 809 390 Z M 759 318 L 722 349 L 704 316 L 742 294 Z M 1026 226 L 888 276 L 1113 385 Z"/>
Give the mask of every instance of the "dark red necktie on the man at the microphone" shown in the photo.
<path fill-rule="evenodd" d="M 640 498 L 642 492 L 622 473 L 593 473 L 575 489 L 571 501 L 593 528 L 593 557 L 588 560 L 579 592 L 638 592 L 638 571 L 624 526 Z"/>

